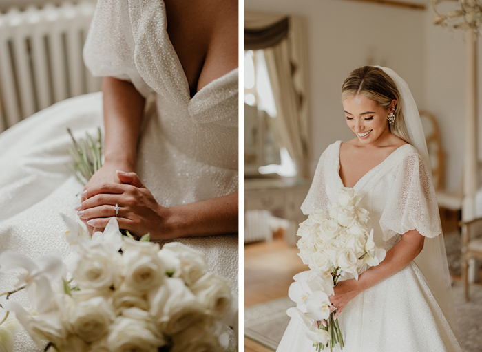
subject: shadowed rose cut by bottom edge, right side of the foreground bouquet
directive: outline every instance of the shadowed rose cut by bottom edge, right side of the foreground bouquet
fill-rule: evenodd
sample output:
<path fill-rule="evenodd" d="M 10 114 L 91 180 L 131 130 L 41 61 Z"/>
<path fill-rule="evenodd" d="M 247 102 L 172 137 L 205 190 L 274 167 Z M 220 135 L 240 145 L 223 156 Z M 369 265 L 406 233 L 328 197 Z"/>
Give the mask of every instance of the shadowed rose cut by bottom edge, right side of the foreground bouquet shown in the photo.
<path fill-rule="evenodd" d="M 221 352 L 218 338 L 206 324 L 198 323 L 172 337 L 171 352 Z"/>

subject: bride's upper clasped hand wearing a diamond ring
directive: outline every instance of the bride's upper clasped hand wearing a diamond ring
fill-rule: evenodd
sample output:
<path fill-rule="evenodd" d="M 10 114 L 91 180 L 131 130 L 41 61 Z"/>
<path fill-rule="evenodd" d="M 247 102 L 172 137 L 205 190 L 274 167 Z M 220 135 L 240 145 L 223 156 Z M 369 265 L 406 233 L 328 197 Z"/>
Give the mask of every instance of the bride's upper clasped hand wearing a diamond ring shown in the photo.
<path fill-rule="evenodd" d="M 136 236 L 149 232 L 151 239 L 169 239 L 169 208 L 160 206 L 136 173 L 117 171 L 124 184 L 103 183 L 87 189 L 78 216 L 87 224 L 103 230 L 112 217 L 117 217 L 119 228 Z M 114 206 L 118 204 L 116 216 Z"/>

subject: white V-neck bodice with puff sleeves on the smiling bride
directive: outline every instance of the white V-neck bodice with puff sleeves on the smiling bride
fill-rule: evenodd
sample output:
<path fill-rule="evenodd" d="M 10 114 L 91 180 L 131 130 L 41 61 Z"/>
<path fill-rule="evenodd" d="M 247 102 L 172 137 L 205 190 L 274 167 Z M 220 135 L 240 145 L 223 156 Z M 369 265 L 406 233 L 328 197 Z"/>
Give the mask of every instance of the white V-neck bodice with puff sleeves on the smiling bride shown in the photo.
<path fill-rule="evenodd" d="M 331 144 L 320 157 L 313 184 L 302 205 L 305 214 L 337 203 L 338 192 L 344 187 L 339 177 L 341 144 L 341 141 Z M 401 234 L 409 230 L 417 229 L 429 238 L 441 233 L 430 173 L 417 149 L 410 144 L 393 151 L 353 188 L 362 196 L 359 206 L 370 212 L 368 228 L 373 228 L 373 239 L 379 248 L 390 250 Z"/>

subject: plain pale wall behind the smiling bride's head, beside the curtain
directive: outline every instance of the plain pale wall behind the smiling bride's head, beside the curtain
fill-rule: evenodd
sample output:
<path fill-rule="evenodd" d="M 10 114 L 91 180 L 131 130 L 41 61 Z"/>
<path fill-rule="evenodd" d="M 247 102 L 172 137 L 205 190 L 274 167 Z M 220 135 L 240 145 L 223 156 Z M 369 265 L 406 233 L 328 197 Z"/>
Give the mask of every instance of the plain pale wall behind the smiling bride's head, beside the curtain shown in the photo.
<path fill-rule="evenodd" d="M 342 83 L 351 70 L 391 67 L 424 105 L 423 11 L 341 0 L 245 0 L 245 8 L 308 20 L 313 172 L 328 144 L 353 138 L 340 102 Z"/>

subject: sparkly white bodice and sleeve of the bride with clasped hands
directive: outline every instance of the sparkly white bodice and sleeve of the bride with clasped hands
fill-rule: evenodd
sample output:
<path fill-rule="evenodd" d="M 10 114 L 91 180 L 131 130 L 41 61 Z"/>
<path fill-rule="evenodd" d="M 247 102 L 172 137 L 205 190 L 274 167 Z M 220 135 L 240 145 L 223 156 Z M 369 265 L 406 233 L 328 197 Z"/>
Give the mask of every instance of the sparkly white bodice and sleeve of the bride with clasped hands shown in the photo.
<path fill-rule="evenodd" d="M 176 206 L 237 190 L 238 69 L 191 98 L 167 34 L 163 1 L 99 0 L 84 60 L 94 76 L 129 80 L 155 100 L 155 109 L 144 116 L 136 172 L 160 204 Z"/>

